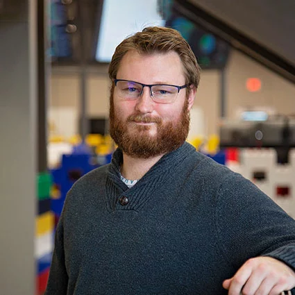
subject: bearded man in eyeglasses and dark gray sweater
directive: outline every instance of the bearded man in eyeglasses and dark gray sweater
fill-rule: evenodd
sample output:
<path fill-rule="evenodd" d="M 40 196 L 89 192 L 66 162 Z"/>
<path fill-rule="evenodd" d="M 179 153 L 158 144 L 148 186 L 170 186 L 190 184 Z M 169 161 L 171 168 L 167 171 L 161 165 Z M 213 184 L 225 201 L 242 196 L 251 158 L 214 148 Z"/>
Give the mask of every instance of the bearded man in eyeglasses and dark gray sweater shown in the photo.
<path fill-rule="evenodd" d="M 295 286 L 295 221 L 185 142 L 199 65 L 173 29 L 117 47 L 110 165 L 78 180 L 56 229 L 47 295 L 256 294 Z"/>

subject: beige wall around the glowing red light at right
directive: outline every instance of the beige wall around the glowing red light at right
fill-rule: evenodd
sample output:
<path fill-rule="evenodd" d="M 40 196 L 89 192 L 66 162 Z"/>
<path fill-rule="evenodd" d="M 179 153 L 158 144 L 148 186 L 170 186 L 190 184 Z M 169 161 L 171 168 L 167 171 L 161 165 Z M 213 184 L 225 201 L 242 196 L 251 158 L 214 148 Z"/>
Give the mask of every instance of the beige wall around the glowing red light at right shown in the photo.
<path fill-rule="evenodd" d="M 260 92 L 248 92 L 246 79 L 262 80 Z M 239 107 L 267 106 L 284 115 L 295 114 L 295 85 L 269 71 L 237 51 L 228 63 L 228 117 L 235 117 Z"/>

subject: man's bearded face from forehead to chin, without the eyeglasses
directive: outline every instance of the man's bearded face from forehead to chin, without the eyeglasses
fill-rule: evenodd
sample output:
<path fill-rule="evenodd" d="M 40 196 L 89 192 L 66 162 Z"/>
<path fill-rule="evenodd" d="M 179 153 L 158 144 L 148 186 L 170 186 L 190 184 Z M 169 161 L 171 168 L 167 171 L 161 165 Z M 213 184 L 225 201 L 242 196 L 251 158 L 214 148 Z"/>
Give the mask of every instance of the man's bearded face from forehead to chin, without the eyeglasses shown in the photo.
<path fill-rule="evenodd" d="M 183 65 L 178 54 L 140 55 L 128 51 L 122 58 L 117 79 L 144 84 L 184 85 Z M 121 99 L 114 88 L 110 97 L 110 135 L 133 158 L 151 158 L 177 149 L 189 131 L 189 110 L 195 91 L 187 98 L 180 90 L 174 103 L 155 103 L 149 87 L 135 100 Z"/>

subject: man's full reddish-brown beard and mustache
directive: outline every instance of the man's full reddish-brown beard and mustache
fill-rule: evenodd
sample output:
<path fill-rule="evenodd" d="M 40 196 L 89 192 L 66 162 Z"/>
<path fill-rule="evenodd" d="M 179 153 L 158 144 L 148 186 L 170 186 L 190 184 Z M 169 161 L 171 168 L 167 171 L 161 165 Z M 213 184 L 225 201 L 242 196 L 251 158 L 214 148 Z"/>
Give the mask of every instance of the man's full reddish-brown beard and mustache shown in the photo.
<path fill-rule="evenodd" d="M 185 100 L 178 121 L 163 122 L 160 117 L 149 117 L 140 113 L 130 115 L 126 121 L 115 114 L 115 106 L 110 98 L 110 136 L 117 146 L 133 158 L 151 158 L 178 149 L 189 133 L 188 101 Z M 156 134 L 150 135 L 150 126 L 133 126 L 128 130 L 129 122 L 144 122 L 156 124 Z"/>

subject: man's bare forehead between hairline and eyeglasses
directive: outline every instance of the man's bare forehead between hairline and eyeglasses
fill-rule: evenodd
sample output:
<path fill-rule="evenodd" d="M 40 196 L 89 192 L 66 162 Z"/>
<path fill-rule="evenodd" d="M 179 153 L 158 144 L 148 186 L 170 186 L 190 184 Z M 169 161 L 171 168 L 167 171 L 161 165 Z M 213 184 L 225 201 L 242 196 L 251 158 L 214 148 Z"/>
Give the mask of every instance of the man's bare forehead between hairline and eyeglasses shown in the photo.
<path fill-rule="evenodd" d="M 175 51 L 152 54 L 128 51 L 119 64 L 117 78 L 146 84 L 185 83 L 183 63 Z"/>

